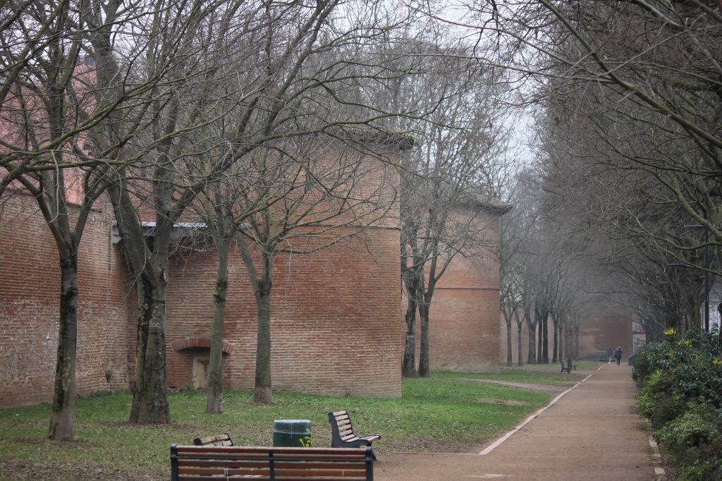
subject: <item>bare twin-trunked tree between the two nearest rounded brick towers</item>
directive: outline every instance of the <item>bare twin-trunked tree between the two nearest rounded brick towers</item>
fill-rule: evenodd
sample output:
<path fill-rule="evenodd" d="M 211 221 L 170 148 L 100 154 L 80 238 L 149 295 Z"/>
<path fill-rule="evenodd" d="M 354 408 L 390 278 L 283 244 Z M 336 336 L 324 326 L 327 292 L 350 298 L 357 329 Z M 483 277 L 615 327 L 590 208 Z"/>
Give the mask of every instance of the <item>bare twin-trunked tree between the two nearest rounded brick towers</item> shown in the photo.
<path fill-rule="evenodd" d="M 426 54 L 431 52 L 426 51 Z M 435 68 L 396 86 L 401 98 L 419 95 L 433 111 L 414 129 L 419 145 L 407 156 L 401 183 L 401 275 L 406 290 L 406 347 L 402 372 L 417 376 L 416 313 L 421 323 L 419 376 L 428 376 L 429 319 L 435 285 L 457 254 L 484 242 L 475 208 L 496 205 L 505 172 L 497 168 L 503 147 L 505 109 L 497 71 L 477 71 L 473 62 L 438 50 Z M 431 106 L 429 110 L 432 110 Z"/>

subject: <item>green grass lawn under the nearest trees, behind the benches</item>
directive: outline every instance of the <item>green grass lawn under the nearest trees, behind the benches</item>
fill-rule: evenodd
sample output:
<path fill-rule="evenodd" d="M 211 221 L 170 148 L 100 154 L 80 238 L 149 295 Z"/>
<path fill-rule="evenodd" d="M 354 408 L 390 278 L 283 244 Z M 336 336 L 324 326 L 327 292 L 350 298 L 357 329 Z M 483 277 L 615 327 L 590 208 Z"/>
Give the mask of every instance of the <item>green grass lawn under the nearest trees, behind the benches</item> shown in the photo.
<path fill-rule="evenodd" d="M 330 446 L 327 412 L 343 408 L 349 410 L 355 430 L 362 436 L 383 436 L 374 443 L 380 454 L 469 452 L 551 399 L 543 392 L 440 378 L 405 380 L 400 399 L 323 397 L 283 391 L 274 396 L 273 406 L 256 406 L 251 391 L 228 391 L 224 394 L 224 414 L 209 415 L 204 412 L 205 393 L 178 392 L 170 395 L 170 425 L 127 423 L 131 407 L 131 395 L 127 393 L 82 397 L 75 410 L 77 441 L 72 443 L 45 439 L 49 404 L 0 410 L 0 479 L 17 478 L 6 469 L 14 463 L 33 469 L 112 467 L 126 475 L 136 473 L 126 477 L 118 474 L 118 479 L 132 479 L 141 472 L 144 479 L 165 480 L 170 469 L 170 443 L 191 444 L 196 436 L 228 432 L 239 445 L 270 446 L 276 419 L 311 420 L 314 446 Z M 9 460 L 12 462 L 8 464 Z M 72 477 L 82 479 L 84 475 L 70 473 L 58 479 Z"/>

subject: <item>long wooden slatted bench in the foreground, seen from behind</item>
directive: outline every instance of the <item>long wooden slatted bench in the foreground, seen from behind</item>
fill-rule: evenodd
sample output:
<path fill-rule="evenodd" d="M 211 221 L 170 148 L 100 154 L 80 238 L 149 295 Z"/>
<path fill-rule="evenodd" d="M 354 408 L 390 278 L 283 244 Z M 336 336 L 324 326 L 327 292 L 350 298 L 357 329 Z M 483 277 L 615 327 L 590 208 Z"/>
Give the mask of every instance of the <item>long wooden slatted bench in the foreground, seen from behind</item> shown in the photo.
<path fill-rule="evenodd" d="M 170 445 L 171 481 L 373 481 L 373 451 Z"/>

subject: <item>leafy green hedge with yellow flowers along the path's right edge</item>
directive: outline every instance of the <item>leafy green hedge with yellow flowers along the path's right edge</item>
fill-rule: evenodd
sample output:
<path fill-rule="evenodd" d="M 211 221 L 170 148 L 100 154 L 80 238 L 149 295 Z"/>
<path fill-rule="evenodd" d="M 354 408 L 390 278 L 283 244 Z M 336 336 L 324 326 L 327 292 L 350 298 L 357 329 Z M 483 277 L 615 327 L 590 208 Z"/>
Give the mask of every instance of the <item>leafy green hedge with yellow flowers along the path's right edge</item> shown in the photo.
<path fill-rule="evenodd" d="M 640 412 L 679 480 L 722 480 L 722 345 L 717 332 L 664 332 L 635 352 Z"/>

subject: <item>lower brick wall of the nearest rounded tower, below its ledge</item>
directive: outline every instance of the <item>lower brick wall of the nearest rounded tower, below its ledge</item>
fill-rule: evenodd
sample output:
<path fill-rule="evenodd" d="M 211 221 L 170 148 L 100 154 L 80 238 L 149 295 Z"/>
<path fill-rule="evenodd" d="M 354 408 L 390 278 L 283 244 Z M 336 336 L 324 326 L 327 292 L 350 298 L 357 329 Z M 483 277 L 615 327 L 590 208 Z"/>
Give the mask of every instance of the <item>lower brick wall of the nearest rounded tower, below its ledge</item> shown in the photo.
<path fill-rule="evenodd" d="M 279 256 L 271 295 L 274 389 L 314 394 L 401 395 L 403 325 L 399 299 L 399 230 L 378 228 L 316 254 Z M 215 253 L 178 259 L 168 290 L 168 384 L 192 382 L 199 347 L 175 350 L 186 337 L 210 339 Z M 245 266 L 230 255 L 223 358 L 225 385 L 253 387 L 256 304 Z M 196 345 L 199 343 L 196 342 Z"/>

